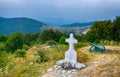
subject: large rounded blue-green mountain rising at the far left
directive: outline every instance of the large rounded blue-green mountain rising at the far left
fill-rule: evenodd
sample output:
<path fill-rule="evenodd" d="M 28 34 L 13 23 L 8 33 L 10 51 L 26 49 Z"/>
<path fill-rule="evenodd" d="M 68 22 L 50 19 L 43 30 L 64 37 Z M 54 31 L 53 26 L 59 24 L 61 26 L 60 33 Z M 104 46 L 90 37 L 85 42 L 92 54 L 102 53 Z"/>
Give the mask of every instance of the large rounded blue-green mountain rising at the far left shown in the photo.
<path fill-rule="evenodd" d="M 3 18 L 0 17 L 0 35 L 8 35 L 13 32 L 36 33 L 42 30 L 42 22 L 30 18 Z"/>

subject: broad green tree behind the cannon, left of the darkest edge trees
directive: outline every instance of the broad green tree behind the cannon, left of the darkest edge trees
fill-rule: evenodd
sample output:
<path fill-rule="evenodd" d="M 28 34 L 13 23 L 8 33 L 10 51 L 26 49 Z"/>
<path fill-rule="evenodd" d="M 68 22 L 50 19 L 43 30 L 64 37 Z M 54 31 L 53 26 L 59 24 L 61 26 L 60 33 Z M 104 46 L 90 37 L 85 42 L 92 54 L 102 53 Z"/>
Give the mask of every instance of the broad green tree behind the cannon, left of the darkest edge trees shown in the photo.
<path fill-rule="evenodd" d="M 111 40 L 111 21 L 95 22 L 91 30 L 85 35 L 86 40 L 90 42 L 100 42 L 101 40 Z"/>

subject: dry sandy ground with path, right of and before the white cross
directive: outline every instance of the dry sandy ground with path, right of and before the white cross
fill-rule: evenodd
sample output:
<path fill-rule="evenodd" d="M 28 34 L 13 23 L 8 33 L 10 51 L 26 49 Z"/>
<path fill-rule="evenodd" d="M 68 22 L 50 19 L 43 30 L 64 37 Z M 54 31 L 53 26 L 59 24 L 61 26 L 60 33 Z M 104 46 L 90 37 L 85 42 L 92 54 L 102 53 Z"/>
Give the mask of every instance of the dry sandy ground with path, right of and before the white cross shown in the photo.
<path fill-rule="evenodd" d="M 120 77 L 119 46 L 106 46 L 107 53 L 91 53 L 89 49 L 90 46 L 79 49 L 79 53 L 83 52 L 89 57 L 89 60 L 84 62 L 86 64 L 85 68 L 76 70 L 76 73 L 70 72 L 72 70 L 62 69 L 61 71 L 61 69 L 57 69 L 39 77 Z M 59 70 L 61 71 L 60 73 Z"/>

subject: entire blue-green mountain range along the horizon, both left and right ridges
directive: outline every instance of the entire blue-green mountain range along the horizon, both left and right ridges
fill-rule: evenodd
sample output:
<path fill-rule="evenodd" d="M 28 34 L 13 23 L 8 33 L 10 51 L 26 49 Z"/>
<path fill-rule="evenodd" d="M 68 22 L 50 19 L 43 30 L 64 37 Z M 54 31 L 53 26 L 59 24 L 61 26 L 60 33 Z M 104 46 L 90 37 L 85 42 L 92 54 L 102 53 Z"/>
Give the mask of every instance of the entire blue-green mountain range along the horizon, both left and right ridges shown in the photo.
<path fill-rule="evenodd" d="M 93 23 L 94 22 L 73 23 L 73 24 L 66 24 L 61 26 L 49 26 L 43 22 L 31 19 L 31 18 L 26 18 L 26 17 L 19 17 L 19 18 L 0 17 L 0 35 L 9 35 L 14 32 L 37 33 L 37 32 L 41 32 L 45 28 L 49 29 L 49 27 L 50 29 L 54 29 L 54 27 L 57 27 L 57 28 L 69 27 L 72 29 L 72 27 L 90 26 Z"/>

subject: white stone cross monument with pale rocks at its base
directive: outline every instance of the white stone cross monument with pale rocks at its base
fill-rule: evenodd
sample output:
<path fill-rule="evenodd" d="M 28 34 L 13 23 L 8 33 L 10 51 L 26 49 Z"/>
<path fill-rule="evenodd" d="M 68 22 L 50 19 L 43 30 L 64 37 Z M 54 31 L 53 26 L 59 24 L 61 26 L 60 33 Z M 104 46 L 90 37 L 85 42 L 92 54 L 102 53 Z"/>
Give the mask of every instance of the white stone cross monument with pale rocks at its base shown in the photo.
<path fill-rule="evenodd" d="M 70 33 L 70 37 L 66 39 L 66 42 L 69 43 L 69 50 L 65 53 L 65 60 L 59 60 L 56 62 L 57 65 L 62 65 L 64 62 L 71 63 L 72 67 L 82 68 L 85 67 L 84 64 L 77 62 L 77 53 L 74 50 L 74 44 L 77 43 L 77 40 L 74 38 L 73 33 Z"/>

